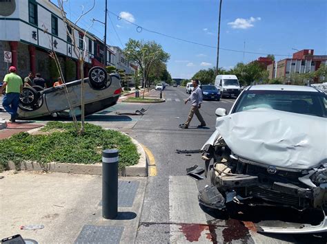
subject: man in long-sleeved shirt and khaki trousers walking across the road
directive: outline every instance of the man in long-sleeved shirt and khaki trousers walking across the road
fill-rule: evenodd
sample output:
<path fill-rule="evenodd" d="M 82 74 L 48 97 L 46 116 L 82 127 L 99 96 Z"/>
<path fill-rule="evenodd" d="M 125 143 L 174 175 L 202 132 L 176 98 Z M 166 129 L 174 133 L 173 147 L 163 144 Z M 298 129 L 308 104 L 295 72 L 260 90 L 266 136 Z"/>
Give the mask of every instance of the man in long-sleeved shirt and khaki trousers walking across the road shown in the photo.
<path fill-rule="evenodd" d="M 202 118 L 202 115 L 199 111 L 199 108 L 201 108 L 201 102 L 202 102 L 202 91 L 199 87 L 199 80 L 192 80 L 193 85 L 193 91 L 188 97 L 188 99 L 185 100 L 185 104 L 190 101 L 191 107 L 190 107 L 190 113 L 188 113 L 188 120 L 184 124 L 180 124 L 179 127 L 181 129 L 188 129 L 188 125 L 190 124 L 193 115 L 197 115 L 197 119 L 201 122 L 201 124 L 198 127 L 206 126 L 206 122 L 204 122 L 204 118 Z"/>

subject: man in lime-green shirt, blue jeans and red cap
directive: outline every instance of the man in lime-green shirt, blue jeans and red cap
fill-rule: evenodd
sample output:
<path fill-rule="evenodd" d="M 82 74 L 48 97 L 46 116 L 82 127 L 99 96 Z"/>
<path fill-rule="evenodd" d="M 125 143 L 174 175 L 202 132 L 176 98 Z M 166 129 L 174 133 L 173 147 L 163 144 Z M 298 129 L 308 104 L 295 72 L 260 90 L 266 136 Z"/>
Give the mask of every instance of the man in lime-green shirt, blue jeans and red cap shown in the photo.
<path fill-rule="evenodd" d="M 0 94 L 2 90 L 6 88 L 6 95 L 3 98 L 2 106 L 3 108 L 10 113 L 10 122 L 16 122 L 18 117 L 17 109 L 19 104 L 19 94 L 23 89 L 23 80 L 20 76 L 16 74 L 16 67 L 10 66 L 9 74 L 6 74 L 3 79 L 3 85 L 0 89 Z"/>

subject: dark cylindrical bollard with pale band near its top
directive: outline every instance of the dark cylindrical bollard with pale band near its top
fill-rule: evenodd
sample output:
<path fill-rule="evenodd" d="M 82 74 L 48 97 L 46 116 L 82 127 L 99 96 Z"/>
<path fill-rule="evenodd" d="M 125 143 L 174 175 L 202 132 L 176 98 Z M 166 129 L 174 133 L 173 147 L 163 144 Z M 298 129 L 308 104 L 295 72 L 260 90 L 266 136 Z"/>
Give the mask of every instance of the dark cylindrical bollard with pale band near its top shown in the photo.
<path fill-rule="evenodd" d="M 118 150 L 102 151 L 102 217 L 115 219 L 118 214 Z"/>

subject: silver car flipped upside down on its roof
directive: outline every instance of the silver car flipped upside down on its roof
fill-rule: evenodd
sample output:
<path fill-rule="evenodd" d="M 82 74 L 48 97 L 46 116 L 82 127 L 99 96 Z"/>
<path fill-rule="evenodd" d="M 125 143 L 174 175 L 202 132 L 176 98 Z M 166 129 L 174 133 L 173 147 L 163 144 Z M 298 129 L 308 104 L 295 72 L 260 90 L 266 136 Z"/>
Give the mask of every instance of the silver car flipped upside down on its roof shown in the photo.
<path fill-rule="evenodd" d="M 67 88 L 65 89 L 65 86 Z M 85 115 L 96 113 L 117 103 L 121 94 L 119 74 L 107 74 L 101 67 L 92 67 L 84 79 Z M 68 99 L 75 115 L 80 115 L 81 80 L 75 80 L 43 89 L 23 87 L 19 101 L 19 118 L 37 118 L 70 110 Z M 72 111 L 68 114 L 72 115 Z"/>

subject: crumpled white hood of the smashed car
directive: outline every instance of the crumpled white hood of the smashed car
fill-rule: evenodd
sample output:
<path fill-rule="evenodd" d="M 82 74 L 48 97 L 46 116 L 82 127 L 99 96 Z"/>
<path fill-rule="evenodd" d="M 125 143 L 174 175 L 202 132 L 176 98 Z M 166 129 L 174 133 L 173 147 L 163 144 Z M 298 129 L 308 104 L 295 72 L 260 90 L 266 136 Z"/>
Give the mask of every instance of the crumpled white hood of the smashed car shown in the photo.
<path fill-rule="evenodd" d="M 327 162 L 326 118 L 252 109 L 218 118 L 206 144 L 219 135 L 233 153 L 258 163 L 308 169 Z"/>

